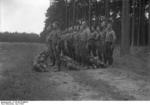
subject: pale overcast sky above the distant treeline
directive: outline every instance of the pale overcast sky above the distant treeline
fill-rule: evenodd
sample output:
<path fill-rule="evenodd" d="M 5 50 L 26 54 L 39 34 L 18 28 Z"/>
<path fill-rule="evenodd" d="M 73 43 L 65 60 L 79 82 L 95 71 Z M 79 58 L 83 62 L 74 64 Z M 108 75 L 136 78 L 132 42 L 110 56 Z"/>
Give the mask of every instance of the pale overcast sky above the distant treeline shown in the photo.
<path fill-rule="evenodd" d="M 0 31 L 40 33 L 50 0 L 0 0 Z"/>

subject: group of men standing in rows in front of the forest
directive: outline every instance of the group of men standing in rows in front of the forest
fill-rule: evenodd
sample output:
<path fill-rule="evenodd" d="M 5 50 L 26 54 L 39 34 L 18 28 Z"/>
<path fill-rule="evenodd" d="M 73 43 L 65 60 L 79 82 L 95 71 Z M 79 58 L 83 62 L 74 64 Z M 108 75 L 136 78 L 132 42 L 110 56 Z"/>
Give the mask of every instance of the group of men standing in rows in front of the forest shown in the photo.
<path fill-rule="evenodd" d="M 55 22 L 51 25 L 46 43 L 52 66 L 57 65 L 60 70 L 62 56 L 68 56 L 82 65 L 112 65 L 115 40 L 111 23 L 105 21 L 91 29 L 83 23 L 79 30 L 67 32 L 62 32 Z"/>

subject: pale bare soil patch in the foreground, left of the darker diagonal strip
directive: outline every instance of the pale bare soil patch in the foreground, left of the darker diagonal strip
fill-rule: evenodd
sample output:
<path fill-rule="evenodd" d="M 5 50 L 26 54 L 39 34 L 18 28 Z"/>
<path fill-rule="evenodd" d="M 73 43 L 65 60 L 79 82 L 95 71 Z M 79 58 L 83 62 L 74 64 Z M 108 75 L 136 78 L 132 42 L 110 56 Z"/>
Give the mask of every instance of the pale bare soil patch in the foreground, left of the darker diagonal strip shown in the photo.
<path fill-rule="evenodd" d="M 49 78 L 56 86 L 56 90 L 64 94 L 70 94 L 66 100 L 90 100 L 97 92 L 88 86 L 82 86 L 74 80 L 74 78 L 66 72 L 52 73 Z"/>

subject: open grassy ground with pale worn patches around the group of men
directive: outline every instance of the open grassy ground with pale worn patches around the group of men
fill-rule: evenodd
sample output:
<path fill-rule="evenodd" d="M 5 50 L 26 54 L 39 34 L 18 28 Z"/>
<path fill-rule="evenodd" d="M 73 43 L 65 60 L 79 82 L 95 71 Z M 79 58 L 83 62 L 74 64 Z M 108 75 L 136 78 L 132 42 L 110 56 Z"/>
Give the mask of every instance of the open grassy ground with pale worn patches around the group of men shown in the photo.
<path fill-rule="evenodd" d="M 37 43 L 0 43 L 0 100 L 150 100 L 150 52 L 115 55 L 107 69 L 38 73 Z M 117 53 L 115 53 L 117 54 Z"/>

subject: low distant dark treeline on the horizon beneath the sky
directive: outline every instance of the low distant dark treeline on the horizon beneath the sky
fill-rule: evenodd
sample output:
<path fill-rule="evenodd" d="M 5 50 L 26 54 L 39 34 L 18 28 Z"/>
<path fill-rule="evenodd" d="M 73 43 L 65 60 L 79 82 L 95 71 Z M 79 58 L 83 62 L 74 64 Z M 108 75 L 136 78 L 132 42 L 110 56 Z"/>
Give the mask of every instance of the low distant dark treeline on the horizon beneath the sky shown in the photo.
<path fill-rule="evenodd" d="M 0 42 L 41 42 L 41 38 L 35 33 L 10 33 L 0 32 Z"/>

